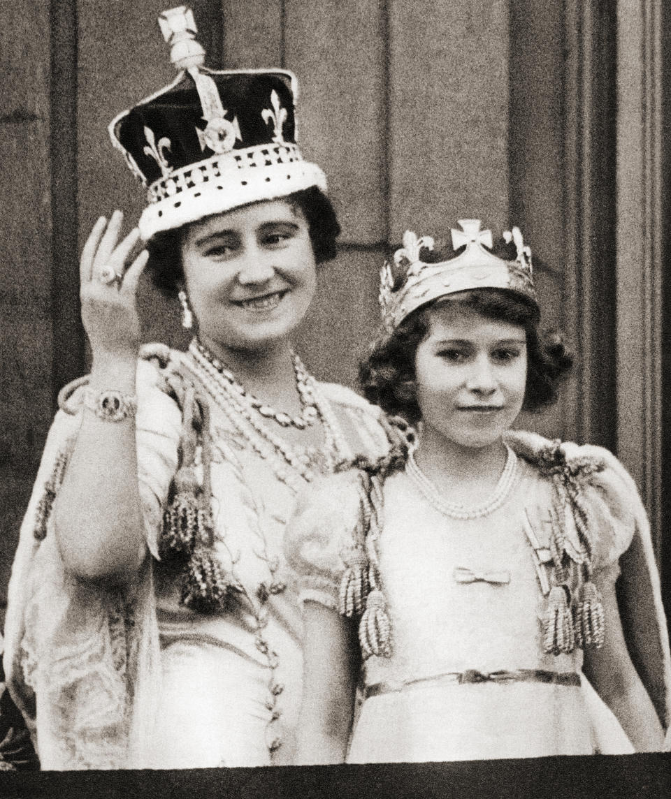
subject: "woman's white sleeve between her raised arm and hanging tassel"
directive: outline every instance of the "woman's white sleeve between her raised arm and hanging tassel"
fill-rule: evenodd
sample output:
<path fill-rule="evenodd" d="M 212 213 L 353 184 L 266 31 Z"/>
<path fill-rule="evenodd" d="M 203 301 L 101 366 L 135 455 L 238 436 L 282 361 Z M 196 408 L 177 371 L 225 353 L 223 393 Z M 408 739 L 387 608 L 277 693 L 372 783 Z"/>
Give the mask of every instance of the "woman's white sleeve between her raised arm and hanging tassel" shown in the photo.
<path fill-rule="evenodd" d="M 145 520 L 146 541 L 151 554 L 158 557 L 158 536 L 162 511 L 178 467 L 182 411 L 174 398 L 163 390 L 164 378 L 152 364 L 138 363 L 136 392 L 138 415 L 138 487 Z"/>

